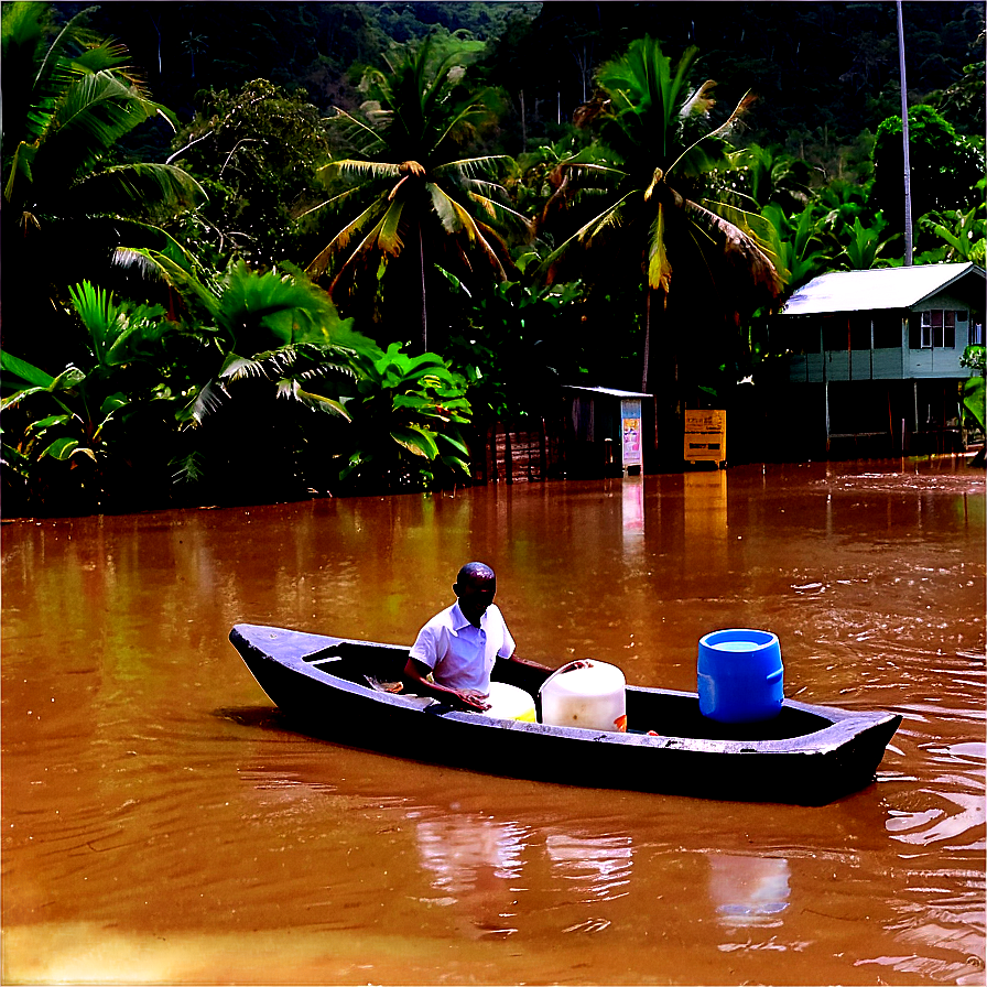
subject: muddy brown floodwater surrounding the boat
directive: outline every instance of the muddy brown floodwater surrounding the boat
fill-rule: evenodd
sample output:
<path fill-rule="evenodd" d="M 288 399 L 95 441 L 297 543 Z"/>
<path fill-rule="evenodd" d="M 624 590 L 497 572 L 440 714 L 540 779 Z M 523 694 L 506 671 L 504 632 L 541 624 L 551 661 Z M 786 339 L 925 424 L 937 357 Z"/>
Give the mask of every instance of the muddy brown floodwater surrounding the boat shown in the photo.
<path fill-rule="evenodd" d="M 744 466 L 2 529 L 6 984 L 983 984 L 984 473 Z M 519 653 L 901 713 L 823 807 L 485 777 L 271 713 L 239 621 L 411 642 L 459 564 Z M 408 737 L 409 755 L 414 737 Z"/>

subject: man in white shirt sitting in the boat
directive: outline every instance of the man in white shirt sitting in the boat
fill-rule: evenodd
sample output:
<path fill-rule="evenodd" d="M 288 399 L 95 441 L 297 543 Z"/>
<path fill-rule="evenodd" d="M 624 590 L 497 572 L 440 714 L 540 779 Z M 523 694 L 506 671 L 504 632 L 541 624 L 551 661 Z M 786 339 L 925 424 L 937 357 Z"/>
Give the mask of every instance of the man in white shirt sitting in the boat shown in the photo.
<path fill-rule="evenodd" d="M 490 673 L 498 658 L 546 666 L 513 657 L 514 639 L 494 604 L 497 576 L 489 565 L 467 562 L 453 593 L 456 603 L 419 631 L 404 674 L 422 695 L 482 712 L 490 708 Z"/>

